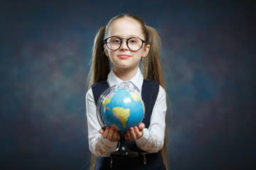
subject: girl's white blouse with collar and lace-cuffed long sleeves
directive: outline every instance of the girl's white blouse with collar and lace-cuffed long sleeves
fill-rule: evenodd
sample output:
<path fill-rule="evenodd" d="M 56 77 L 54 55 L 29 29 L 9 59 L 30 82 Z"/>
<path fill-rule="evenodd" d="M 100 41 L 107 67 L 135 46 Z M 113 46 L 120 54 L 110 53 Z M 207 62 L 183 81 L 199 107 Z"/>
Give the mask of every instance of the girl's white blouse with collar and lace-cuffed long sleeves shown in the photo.
<path fill-rule="evenodd" d="M 116 85 L 117 88 L 127 88 L 136 91 L 142 95 L 143 75 L 140 69 L 130 81 L 122 81 L 111 70 L 107 77 L 107 83 L 110 86 Z M 128 86 L 127 86 L 128 85 Z M 107 153 L 114 152 L 117 148 L 117 142 L 111 142 L 105 139 L 100 134 L 101 128 L 96 115 L 96 104 L 92 94 L 92 89 L 86 94 L 86 113 L 88 126 L 88 142 L 92 154 L 97 157 L 106 157 Z M 156 98 L 156 103 L 151 113 L 149 128 L 144 128 L 144 134 L 139 140 L 136 140 L 137 147 L 145 152 L 159 152 L 164 146 L 164 130 L 166 118 L 166 92 L 159 86 L 159 94 Z"/>

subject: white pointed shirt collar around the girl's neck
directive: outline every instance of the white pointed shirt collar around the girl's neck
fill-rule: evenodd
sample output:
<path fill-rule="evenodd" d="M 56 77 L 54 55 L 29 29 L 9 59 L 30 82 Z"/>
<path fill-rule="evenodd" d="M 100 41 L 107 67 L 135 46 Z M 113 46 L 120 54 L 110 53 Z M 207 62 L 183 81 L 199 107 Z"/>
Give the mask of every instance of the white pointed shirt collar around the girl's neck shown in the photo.
<path fill-rule="evenodd" d="M 142 72 L 140 71 L 139 67 L 138 67 L 138 70 L 137 70 L 137 73 L 135 74 L 135 76 L 132 77 L 132 79 L 130 79 L 129 81 L 131 81 L 132 84 L 134 84 L 134 86 L 136 86 L 137 89 L 139 89 L 139 91 L 142 91 L 143 75 L 142 75 Z M 121 79 L 119 79 L 116 76 L 116 74 L 114 74 L 114 71 L 112 68 L 110 73 L 107 76 L 107 82 L 108 82 L 108 84 L 110 84 L 110 86 L 119 86 L 120 84 L 122 84 L 122 82 L 127 82 L 127 81 L 122 81 Z"/>

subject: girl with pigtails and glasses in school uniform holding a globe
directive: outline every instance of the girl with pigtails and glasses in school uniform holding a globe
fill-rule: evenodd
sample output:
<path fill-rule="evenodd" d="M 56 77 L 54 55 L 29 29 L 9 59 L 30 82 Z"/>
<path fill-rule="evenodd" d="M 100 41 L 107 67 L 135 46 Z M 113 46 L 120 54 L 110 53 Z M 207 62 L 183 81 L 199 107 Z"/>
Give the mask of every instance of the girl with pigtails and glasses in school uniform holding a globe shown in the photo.
<path fill-rule="evenodd" d="M 86 94 L 88 140 L 93 154 L 91 169 L 168 169 L 166 93 L 159 59 L 160 46 L 156 30 L 132 14 L 116 16 L 98 31 L 92 51 L 92 88 Z M 139 69 L 141 60 L 142 72 Z M 114 128 L 103 130 L 100 127 L 95 103 L 108 86 L 114 85 L 136 91 L 144 100 L 143 122 L 124 135 L 129 141 L 128 148 L 139 152 L 139 157 L 107 157 L 107 153 L 117 148 L 120 135 Z"/>

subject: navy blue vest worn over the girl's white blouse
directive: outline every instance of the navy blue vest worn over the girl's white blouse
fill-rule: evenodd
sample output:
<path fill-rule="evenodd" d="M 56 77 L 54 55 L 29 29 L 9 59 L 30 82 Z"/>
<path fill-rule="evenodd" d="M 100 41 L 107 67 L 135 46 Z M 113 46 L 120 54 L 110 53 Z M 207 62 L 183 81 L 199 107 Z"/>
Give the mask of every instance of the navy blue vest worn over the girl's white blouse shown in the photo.
<path fill-rule="evenodd" d="M 97 103 L 100 95 L 109 88 L 107 81 L 100 81 L 92 85 L 92 93 Z M 142 122 L 146 128 L 149 128 L 151 113 L 156 103 L 156 98 L 159 93 L 159 83 L 156 81 L 144 79 L 142 84 L 142 100 L 145 106 L 145 115 Z M 135 141 L 126 142 L 127 147 L 134 152 L 144 152 L 139 149 Z M 165 169 L 164 162 L 161 158 L 160 152 L 154 154 L 146 154 L 146 164 L 142 156 L 132 158 L 112 158 L 112 168 L 110 168 L 110 157 L 97 157 L 97 169 Z"/>

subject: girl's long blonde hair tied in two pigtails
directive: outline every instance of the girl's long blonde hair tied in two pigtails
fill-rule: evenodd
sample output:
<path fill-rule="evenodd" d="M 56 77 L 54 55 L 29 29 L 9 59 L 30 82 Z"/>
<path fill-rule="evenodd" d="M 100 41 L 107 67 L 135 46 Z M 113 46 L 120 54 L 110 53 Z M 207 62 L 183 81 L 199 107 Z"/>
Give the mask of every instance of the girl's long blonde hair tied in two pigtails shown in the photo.
<path fill-rule="evenodd" d="M 161 52 L 161 40 L 159 38 L 159 34 L 154 28 L 146 26 L 141 18 L 132 14 L 122 14 L 119 16 L 115 16 L 109 21 L 109 23 L 107 23 L 107 26 L 103 26 L 97 32 L 94 40 L 94 45 L 92 47 L 92 67 L 90 69 L 90 75 L 88 77 L 88 80 L 90 81 L 88 89 L 90 89 L 90 86 L 92 84 L 106 80 L 107 75 L 110 73 L 110 60 L 108 60 L 107 56 L 105 55 L 105 50 L 103 47 L 104 38 L 106 38 L 112 23 L 123 18 L 134 19 L 135 21 L 137 21 L 142 28 L 142 33 L 144 34 L 146 43 L 150 45 L 150 50 L 147 57 L 142 60 L 142 74 L 144 76 L 144 79 L 158 81 L 159 84 L 165 89 L 161 60 L 159 55 L 159 53 Z M 164 147 L 161 149 L 161 155 L 164 160 L 164 165 L 166 166 L 166 169 L 169 169 L 169 162 L 166 158 L 166 156 L 168 156 L 167 128 L 164 134 Z M 95 163 L 96 157 L 95 155 L 92 155 L 91 169 L 95 169 Z"/>

